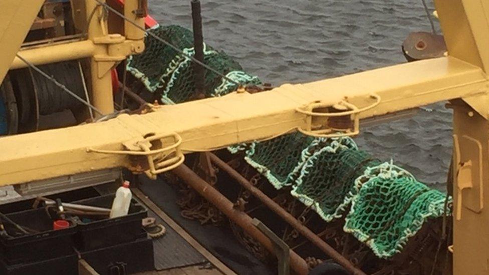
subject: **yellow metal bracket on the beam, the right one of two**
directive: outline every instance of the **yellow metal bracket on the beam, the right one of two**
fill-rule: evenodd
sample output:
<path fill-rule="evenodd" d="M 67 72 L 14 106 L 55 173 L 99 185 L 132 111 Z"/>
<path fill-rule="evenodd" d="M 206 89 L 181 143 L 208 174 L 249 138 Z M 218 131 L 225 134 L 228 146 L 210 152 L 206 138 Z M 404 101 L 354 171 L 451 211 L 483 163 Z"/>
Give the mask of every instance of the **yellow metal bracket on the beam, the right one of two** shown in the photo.
<path fill-rule="evenodd" d="M 333 107 L 331 103 L 325 102 L 313 102 L 307 104 L 301 108 L 297 108 L 296 111 L 306 115 L 306 125 L 304 128 L 299 127 L 297 130 L 304 135 L 313 136 L 313 137 L 324 137 L 324 138 L 332 138 L 332 137 L 345 137 L 345 136 L 355 136 L 360 133 L 360 117 L 359 114 L 361 112 L 367 111 L 369 109 L 374 108 L 380 103 L 380 96 L 376 94 L 371 94 L 370 98 L 374 99 L 375 102 L 367 107 L 358 108 L 357 106 L 346 102 L 344 100 L 340 101 L 337 105 L 346 107 L 348 110 L 343 112 L 315 112 L 316 109 L 327 110 L 327 108 Z M 313 126 L 313 118 L 314 117 L 345 117 L 350 116 L 350 120 L 353 124 L 352 127 L 348 129 L 336 129 L 328 127 L 327 129 L 319 129 L 315 130 L 316 126 Z"/>

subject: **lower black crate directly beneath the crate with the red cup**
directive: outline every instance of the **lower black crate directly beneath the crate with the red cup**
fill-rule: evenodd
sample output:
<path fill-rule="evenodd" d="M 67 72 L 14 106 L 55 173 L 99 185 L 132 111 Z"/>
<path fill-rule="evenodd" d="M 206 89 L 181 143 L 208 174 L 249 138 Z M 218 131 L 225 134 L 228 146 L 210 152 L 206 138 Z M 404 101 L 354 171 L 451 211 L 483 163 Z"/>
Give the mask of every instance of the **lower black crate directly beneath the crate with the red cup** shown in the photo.
<path fill-rule="evenodd" d="M 78 255 L 72 254 L 49 260 L 8 265 L 0 260 L 0 274 L 26 275 L 50 274 L 68 275 L 78 274 Z"/>

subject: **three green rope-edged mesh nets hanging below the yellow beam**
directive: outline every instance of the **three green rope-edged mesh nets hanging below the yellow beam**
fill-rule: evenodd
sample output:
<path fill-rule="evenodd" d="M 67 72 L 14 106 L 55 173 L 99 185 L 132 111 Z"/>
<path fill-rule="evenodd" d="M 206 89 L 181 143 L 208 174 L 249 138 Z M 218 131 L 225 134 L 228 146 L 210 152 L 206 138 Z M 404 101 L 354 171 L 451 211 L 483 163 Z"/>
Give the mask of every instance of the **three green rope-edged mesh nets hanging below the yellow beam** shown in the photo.
<path fill-rule="evenodd" d="M 400 252 L 428 218 L 450 214 L 445 194 L 392 163 L 372 159 L 351 138 L 296 133 L 252 143 L 246 153 L 247 162 L 277 189 L 292 185 L 291 194 L 324 220 L 346 214 L 343 229 L 382 258 Z"/>

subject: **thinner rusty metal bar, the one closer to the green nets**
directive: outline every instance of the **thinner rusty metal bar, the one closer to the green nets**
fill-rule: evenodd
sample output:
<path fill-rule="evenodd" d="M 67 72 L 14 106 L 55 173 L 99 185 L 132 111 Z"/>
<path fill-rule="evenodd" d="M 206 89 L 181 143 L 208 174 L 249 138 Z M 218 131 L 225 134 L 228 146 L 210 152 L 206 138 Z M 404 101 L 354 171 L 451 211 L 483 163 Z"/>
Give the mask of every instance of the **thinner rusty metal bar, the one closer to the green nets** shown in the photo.
<path fill-rule="evenodd" d="M 240 175 L 236 170 L 234 170 L 227 163 L 222 161 L 219 157 L 214 155 L 213 153 L 209 153 L 210 160 L 216 164 L 220 169 L 225 171 L 229 176 L 234 178 L 239 184 L 241 184 L 245 189 L 250 191 L 252 195 L 257 197 L 261 202 L 267 205 L 272 211 L 277 213 L 280 217 L 282 217 L 287 223 L 289 223 L 294 229 L 299 231 L 303 236 L 305 236 L 312 243 L 317 245 L 321 250 L 323 250 L 328 256 L 330 256 L 337 263 L 341 264 L 347 270 L 352 272 L 353 274 L 365 275 L 365 273 L 355 267 L 347 258 L 341 255 L 338 251 L 336 251 L 333 247 L 327 244 L 323 239 L 321 239 L 318 235 L 316 235 L 309 228 L 301 224 L 293 215 L 287 212 L 284 208 L 282 208 L 279 204 L 277 204 L 274 200 L 264 194 L 260 189 L 255 187 L 248 179 Z"/>

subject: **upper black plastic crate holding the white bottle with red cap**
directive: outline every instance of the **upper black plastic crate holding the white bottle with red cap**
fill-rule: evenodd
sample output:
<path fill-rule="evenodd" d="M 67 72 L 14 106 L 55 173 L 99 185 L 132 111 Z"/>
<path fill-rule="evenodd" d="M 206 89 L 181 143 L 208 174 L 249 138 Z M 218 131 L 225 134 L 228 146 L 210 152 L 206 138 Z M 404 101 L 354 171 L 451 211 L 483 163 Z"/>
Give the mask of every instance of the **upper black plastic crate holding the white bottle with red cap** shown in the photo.
<path fill-rule="evenodd" d="M 74 201 L 76 204 L 84 204 L 111 208 L 115 194 L 99 196 L 95 198 Z M 141 220 L 148 216 L 148 210 L 137 200 L 132 199 L 129 213 L 117 218 L 94 219 L 77 221 L 77 233 L 75 245 L 79 251 L 93 250 L 118 243 L 133 241 L 146 237 Z"/>

